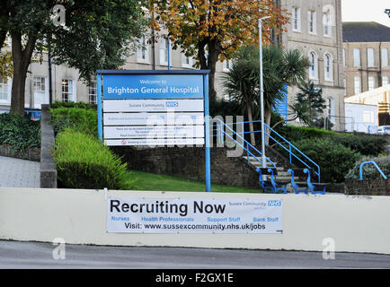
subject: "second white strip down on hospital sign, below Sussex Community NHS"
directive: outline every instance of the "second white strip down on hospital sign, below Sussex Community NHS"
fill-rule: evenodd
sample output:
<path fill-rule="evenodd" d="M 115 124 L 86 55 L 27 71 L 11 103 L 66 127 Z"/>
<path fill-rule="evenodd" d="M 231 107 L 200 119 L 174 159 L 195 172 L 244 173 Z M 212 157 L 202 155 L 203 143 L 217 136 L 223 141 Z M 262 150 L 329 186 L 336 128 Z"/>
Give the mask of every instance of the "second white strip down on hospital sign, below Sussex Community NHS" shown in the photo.
<path fill-rule="evenodd" d="M 203 113 L 104 113 L 104 126 L 203 125 Z"/>

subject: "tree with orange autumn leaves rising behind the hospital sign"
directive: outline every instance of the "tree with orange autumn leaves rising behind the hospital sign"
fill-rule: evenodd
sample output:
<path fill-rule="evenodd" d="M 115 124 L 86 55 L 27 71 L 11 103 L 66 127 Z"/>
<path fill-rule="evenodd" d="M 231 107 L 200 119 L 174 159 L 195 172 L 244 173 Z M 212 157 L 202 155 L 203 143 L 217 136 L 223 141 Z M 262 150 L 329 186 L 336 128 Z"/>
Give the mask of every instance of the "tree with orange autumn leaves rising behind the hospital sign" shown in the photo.
<path fill-rule="evenodd" d="M 195 57 L 196 66 L 210 70 L 210 101 L 216 100 L 214 79 L 217 61 L 231 59 L 235 52 L 259 42 L 258 20 L 263 23 L 263 39 L 270 42 L 270 30 L 279 34 L 288 23 L 287 13 L 274 0 L 151 0 L 146 2 L 156 18 L 152 27 L 163 26 L 173 41 L 173 48 L 182 48 L 187 57 Z"/>

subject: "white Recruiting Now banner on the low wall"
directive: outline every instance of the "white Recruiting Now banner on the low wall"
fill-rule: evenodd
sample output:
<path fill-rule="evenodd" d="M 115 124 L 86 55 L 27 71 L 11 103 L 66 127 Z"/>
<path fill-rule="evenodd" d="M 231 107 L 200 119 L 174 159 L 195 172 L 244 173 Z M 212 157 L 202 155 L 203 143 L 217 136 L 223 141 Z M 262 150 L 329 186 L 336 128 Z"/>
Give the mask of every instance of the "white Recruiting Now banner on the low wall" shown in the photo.
<path fill-rule="evenodd" d="M 124 198 L 107 201 L 111 233 L 282 233 L 281 199 Z"/>

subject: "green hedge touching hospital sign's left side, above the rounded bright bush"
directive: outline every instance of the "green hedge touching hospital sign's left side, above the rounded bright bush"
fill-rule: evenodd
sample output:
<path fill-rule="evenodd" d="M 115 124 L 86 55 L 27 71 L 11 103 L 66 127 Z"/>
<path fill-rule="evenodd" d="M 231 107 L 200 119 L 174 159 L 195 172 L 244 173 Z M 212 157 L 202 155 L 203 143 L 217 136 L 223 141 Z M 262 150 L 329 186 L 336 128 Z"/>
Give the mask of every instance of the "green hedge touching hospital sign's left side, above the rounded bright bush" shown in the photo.
<path fill-rule="evenodd" d="M 56 133 L 71 127 L 97 137 L 97 111 L 94 109 L 58 108 L 50 109 L 50 114 Z"/>

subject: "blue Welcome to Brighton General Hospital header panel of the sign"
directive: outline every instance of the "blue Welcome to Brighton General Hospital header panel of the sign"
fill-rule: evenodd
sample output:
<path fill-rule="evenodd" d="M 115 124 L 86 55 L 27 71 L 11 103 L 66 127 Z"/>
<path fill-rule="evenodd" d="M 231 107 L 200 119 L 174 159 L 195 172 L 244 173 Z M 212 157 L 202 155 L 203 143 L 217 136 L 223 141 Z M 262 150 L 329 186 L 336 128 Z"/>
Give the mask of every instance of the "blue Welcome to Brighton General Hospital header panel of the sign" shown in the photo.
<path fill-rule="evenodd" d="M 104 76 L 103 95 L 106 100 L 203 99 L 203 94 L 201 74 L 107 74 Z M 174 102 L 167 101 L 166 107 L 175 107 Z"/>

